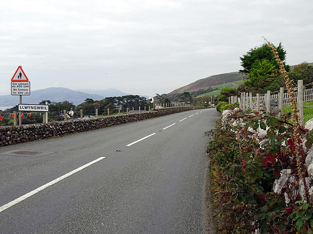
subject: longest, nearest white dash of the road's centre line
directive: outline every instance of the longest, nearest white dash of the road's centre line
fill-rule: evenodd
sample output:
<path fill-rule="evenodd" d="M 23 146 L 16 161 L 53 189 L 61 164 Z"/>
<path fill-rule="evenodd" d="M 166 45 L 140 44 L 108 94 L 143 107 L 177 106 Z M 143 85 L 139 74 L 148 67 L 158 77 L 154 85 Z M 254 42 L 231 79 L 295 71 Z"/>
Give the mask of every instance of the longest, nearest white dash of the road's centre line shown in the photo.
<path fill-rule="evenodd" d="M 56 178 L 55 180 L 52 180 L 51 182 L 46 183 L 45 185 L 43 185 L 43 186 L 41 186 L 41 187 L 39 187 L 39 188 L 37 188 L 37 189 L 35 189 L 35 190 L 25 194 L 25 195 L 20 196 L 19 198 L 17 198 L 15 200 L 13 200 L 13 201 L 11 201 L 11 202 L 1 206 L 0 207 L 0 212 L 4 211 L 5 209 L 8 209 L 11 206 L 14 206 L 15 204 L 21 202 L 22 200 L 25 200 L 26 198 L 28 198 L 28 197 L 30 197 L 30 196 L 32 196 L 34 194 L 37 194 L 38 192 L 40 192 L 40 191 L 48 188 L 49 186 L 51 186 L 51 185 L 61 181 L 62 179 L 65 179 L 66 177 L 71 176 L 74 173 L 79 172 L 80 170 L 83 170 L 86 167 L 89 167 L 91 164 L 96 163 L 96 162 L 102 160 L 103 158 L 105 158 L 105 157 L 99 157 L 98 159 L 93 160 L 92 162 L 89 162 L 89 163 L 85 164 L 84 166 L 81 166 L 81 167 L 79 167 L 79 168 L 77 168 L 77 169 L 75 169 L 75 170 L 65 174 L 64 176 L 60 176 L 59 178 Z"/>

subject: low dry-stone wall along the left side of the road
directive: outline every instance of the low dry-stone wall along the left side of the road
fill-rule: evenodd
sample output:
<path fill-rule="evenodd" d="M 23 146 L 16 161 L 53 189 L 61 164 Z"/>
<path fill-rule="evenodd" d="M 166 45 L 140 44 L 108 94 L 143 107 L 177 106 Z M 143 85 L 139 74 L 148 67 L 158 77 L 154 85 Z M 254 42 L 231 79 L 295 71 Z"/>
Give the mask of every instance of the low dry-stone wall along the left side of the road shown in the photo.
<path fill-rule="evenodd" d="M 25 124 L 19 126 L 4 126 L 0 127 L 0 146 L 47 139 L 50 137 L 61 137 L 69 134 L 202 108 L 203 107 L 190 106 L 161 108 L 156 111 L 127 115 L 56 121 L 39 124 Z"/>

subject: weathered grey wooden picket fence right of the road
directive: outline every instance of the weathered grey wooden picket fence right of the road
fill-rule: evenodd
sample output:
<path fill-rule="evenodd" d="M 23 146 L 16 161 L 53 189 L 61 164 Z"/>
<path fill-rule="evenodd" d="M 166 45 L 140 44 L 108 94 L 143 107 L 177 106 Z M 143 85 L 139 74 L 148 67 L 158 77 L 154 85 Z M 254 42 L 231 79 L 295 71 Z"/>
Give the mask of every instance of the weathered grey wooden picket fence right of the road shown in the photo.
<path fill-rule="evenodd" d="M 303 90 L 303 80 L 298 80 L 297 91 L 294 91 L 294 97 L 296 98 L 299 122 L 303 124 L 303 102 L 313 100 L 313 89 Z M 284 88 L 280 88 L 278 93 L 271 94 L 268 91 L 266 94 L 256 94 L 252 96 L 252 93 L 241 93 L 240 97 L 232 96 L 229 98 L 229 103 L 239 102 L 239 108 L 242 110 L 250 109 L 252 111 L 266 111 L 269 113 L 272 110 L 283 110 L 283 105 L 289 105 L 289 95 L 284 93 Z"/>

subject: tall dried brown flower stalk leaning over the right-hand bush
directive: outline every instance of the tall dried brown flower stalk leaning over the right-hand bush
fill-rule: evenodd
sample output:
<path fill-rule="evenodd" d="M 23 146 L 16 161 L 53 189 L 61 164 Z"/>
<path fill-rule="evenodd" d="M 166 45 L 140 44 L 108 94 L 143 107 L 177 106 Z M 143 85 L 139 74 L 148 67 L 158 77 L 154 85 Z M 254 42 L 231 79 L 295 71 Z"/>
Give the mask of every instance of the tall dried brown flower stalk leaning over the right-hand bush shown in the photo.
<path fill-rule="evenodd" d="M 264 37 L 263 37 L 264 38 Z M 265 38 L 264 38 L 265 39 Z M 265 39 L 267 42 L 268 40 Z M 286 83 L 286 88 L 287 88 L 287 92 L 288 92 L 288 96 L 289 96 L 289 100 L 291 103 L 291 120 L 293 123 L 293 131 L 292 131 L 292 143 L 293 146 L 292 148 L 294 148 L 294 152 L 293 155 L 296 158 L 296 162 L 297 162 L 297 170 L 298 170 L 298 176 L 299 176 L 299 180 L 303 181 L 304 186 L 305 186 L 305 193 L 306 193 L 306 200 L 309 201 L 309 194 L 308 194 L 308 190 L 307 190 L 307 184 L 306 184 L 306 180 L 305 180 L 305 174 L 306 174 L 306 168 L 304 168 L 303 165 L 303 148 L 300 145 L 301 143 L 301 135 L 300 135 L 300 124 L 299 124 L 299 119 L 298 119 L 298 112 L 297 112 L 297 106 L 296 106 L 296 99 L 294 97 L 294 93 L 293 93 L 293 85 L 292 82 L 288 76 L 288 73 L 284 67 L 283 62 L 280 60 L 279 56 L 278 56 L 278 52 L 277 50 L 274 48 L 274 46 L 268 42 L 268 47 L 271 49 L 271 51 L 274 54 L 274 57 L 279 65 L 280 71 L 284 77 L 285 83 Z"/>

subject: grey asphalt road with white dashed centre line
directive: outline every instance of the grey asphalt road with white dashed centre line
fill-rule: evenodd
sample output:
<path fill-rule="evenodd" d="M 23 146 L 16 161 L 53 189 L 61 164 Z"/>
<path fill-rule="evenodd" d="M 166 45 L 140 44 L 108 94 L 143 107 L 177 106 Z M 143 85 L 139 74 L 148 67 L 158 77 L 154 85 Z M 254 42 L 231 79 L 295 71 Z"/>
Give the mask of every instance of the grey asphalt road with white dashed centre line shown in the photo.
<path fill-rule="evenodd" d="M 215 109 L 0 147 L 1 234 L 204 234 Z"/>

